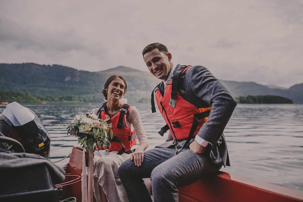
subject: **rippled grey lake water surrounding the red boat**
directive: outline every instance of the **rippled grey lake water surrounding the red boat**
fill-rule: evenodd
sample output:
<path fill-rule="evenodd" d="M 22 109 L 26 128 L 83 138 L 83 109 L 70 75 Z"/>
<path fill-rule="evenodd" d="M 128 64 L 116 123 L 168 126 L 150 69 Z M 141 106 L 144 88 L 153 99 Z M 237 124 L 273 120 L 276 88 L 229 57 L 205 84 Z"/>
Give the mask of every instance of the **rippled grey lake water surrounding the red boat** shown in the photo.
<path fill-rule="evenodd" d="M 165 141 L 158 135 L 165 125 L 161 114 L 151 114 L 150 104 L 138 108 L 150 142 L 148 149 Z M 74 115 L 86 114 L 101 103 L 22 104 L 32 109 L 52 137 L 51 161 L 67 156 L 77 139 L 66 135 Z M 0 105 L 0 113 L 5 105 Z M 224 130 L 231 167 L 221 171 L 303 191 L 303 105 L 238 104 Z M 164 135 L 165 136 L 165 135 Z M 69 158 L 56 163 L 63 166 Z"/>

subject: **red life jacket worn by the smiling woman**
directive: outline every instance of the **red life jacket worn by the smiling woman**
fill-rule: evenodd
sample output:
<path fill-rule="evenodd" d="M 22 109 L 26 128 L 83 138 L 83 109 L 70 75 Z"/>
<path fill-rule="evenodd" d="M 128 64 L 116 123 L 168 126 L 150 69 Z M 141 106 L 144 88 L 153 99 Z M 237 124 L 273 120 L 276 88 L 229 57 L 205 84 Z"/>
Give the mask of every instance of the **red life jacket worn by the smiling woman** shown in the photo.
<path fill-rule="evenodd" d="M 105 112 L 106 104 L 107 103 L 104 103 L 102 107 L 98 110 L 98 118 L 102 120 L 109 118 L 109 116 Z M 123 104 L 122 108 L 118 111 L 118 113 L 110 120 L 108 120 L 108 123 L 112 123 L 112 127 L 110 130 L 113 131 L 113 138 L 111 139 L 110 135 L 108 136 L 111 145 L 108 148 L 99 148 L 98 145 L 96 145 L 98 149 L 109 149 L 110 151 L 118 151 L 118 154 L 130 154 L 134 152 L 134 150 L 131 150 L 131 148 L 136 144 L 135 130 L 131 131 L 131 129 L 126 124 L 126 113 L 129 111 L 130 108 L 131 106 L 129 104 Z"/>

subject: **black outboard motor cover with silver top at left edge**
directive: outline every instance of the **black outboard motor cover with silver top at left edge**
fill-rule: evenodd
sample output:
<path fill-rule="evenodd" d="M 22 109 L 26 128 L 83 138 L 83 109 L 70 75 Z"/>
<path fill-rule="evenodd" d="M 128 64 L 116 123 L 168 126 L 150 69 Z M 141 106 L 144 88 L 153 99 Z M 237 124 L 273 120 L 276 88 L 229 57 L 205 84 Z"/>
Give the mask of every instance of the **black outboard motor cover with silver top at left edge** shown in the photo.
<path fill-rule="evenodd" d="M 49 157 L 51 136 L 38 116 L 17 102 L 6 105 L 0 114 L 0 135 L 19 141 L 27 153 Z M 10 145 L 0 142 L 0 148 Z"/>

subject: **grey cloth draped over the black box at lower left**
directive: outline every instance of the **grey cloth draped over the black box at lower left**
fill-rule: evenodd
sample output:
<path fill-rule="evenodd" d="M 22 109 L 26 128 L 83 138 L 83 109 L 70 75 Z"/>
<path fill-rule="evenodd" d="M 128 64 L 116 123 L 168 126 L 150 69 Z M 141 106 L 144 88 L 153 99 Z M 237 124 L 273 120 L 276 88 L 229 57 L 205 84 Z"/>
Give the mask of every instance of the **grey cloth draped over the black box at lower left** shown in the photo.
<path fill-rule="evenodd" d="M 45 164 L 52 177 L 53 184 L 62 183 L 65 179 L 65 171 L 53 164 L 48 159 L 38 155 L 29 153 L 8 153 L 6 151 L 0 151 L 0 169 L 10 168 L 22 168 L 28 166 L 34 166 L 39 164 Z"/>

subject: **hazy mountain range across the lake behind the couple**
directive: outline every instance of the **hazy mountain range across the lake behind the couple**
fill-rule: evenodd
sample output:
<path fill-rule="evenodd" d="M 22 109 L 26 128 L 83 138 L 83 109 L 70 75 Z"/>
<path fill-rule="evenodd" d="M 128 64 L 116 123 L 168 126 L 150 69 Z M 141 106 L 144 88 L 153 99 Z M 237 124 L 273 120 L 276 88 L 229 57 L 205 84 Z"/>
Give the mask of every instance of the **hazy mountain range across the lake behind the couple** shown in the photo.
<path fill-rule="evenodd" d="M 78 101 L 102 102 L 104 83 L 113 74 L 124 76 L 128 87 L 125 97 L 130 102 L 150 99 L 151 91 L 160 82 L 149 72 L 124 66 L 89 72 L 62 65 L 0 64 L 0 91 L 27 92 L 34 97 L 76 96 Z M 221 81 L 235 97 L 278 95 L 303 103 L 303 83 L 284 90 L 255 82 Z"/>

